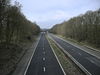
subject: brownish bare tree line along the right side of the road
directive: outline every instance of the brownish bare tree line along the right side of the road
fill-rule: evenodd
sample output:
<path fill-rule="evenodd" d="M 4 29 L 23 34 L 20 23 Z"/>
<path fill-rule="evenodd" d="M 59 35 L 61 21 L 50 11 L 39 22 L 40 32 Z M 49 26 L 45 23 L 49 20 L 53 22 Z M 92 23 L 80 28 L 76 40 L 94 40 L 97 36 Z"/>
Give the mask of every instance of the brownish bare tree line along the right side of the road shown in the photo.
<path fill-rule="evenodd" d="M 50 32 L 100 47 L 100 9 L 56 24 Z"/>

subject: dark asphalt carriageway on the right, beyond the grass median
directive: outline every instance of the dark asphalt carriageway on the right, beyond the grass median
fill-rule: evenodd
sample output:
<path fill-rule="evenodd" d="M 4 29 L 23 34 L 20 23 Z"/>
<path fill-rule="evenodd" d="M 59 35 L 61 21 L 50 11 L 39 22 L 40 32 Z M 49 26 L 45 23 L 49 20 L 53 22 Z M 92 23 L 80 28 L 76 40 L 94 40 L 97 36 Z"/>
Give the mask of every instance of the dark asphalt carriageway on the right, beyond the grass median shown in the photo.
<path fill-rule="evenodd" d="M 76 61 L 78 61 L 91 75 L 100 75 L 100 59 L 91 54 L 65 42 L 64 40 L 49 34 L 64 50 L 66 50 Z"/>

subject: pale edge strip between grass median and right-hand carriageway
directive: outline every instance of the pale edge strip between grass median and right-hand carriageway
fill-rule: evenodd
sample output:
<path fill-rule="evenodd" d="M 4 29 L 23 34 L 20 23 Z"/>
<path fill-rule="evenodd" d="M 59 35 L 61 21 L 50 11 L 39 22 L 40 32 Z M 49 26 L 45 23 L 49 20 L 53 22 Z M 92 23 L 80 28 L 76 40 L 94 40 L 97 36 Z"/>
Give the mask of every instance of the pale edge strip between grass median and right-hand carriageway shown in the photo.
<path fill-rule="evenodd" d="M 52 39 L 49 36 L 50 39 Z M 53 40 L 53 39 L 52 39 Z M 55 40 L 53 40 L 58 46 L 59 48 L 61 48 L 63 50 L 64 53 L 66 53 L 68 55 L 68 57 L 84 72 L 86 73 L 86 75 L 92 75 L 85 67 L 83 67 L 76 59 L 74 59 L 64 48 L 62 48 Z"/>

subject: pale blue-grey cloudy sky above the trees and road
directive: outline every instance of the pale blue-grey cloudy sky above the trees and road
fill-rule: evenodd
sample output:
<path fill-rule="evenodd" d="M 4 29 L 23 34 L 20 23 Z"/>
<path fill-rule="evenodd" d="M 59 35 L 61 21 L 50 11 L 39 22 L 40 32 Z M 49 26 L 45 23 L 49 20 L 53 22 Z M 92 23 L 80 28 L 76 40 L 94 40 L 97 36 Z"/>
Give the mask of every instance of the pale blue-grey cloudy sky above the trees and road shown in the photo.
<path fill-rule="evenodd" d="M 12 3 L 15 0 L 12 1 Z M 17 0 L 22 4 L 22 12 L 27 19 L 36 22 L 41 28 L 67 21 L 71 17 L 88 10 L 100 8 L 100 0 Z"/>

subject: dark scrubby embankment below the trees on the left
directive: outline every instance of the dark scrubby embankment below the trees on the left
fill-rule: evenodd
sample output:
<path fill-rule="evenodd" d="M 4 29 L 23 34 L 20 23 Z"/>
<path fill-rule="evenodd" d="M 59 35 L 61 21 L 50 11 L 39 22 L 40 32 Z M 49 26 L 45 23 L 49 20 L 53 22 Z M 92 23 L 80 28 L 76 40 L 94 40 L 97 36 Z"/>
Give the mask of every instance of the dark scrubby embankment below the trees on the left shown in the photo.
<path fill-rule="evenodd" d="M 24 38 L 19 44 L 12 43 L 7 46 L 6 43 L 0 43 L 0 75 L 11 75 L 36 38 L 37 36 Z"/>

